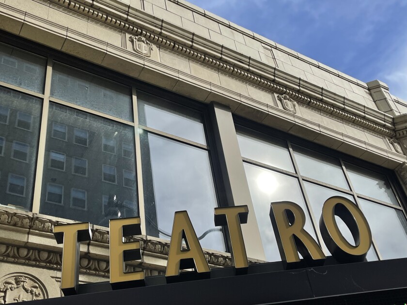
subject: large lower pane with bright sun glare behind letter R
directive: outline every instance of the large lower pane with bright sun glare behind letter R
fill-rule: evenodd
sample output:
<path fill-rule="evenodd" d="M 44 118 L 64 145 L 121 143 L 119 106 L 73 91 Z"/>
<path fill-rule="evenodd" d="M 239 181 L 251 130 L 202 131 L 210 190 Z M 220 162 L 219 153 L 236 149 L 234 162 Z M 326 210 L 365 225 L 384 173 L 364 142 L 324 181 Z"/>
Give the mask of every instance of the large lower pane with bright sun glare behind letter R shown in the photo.
<path fill-rule="evenodd" d="M 307 213 L 298 180 L 248 163 L 245 163 L 244 167 L 266 259 L 268 261 L 280 261 L 280 252 L 269 216 L 270 202 L 292 201 L 297 203 L 304 210 L 307 218 L 305 230 L 315 238 L 311 218 Z"/>

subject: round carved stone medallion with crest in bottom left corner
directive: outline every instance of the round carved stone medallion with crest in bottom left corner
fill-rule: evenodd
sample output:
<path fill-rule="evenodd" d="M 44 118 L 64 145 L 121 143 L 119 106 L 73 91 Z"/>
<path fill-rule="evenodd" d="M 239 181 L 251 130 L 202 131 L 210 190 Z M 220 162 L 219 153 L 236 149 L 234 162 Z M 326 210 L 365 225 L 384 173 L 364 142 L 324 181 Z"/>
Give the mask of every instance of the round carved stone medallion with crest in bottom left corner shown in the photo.
<path fill-rule="evenodd" d="M 0 280 L 0 304 L 47 299 L 39 280 L 28 274 L 8 274 Z"/>

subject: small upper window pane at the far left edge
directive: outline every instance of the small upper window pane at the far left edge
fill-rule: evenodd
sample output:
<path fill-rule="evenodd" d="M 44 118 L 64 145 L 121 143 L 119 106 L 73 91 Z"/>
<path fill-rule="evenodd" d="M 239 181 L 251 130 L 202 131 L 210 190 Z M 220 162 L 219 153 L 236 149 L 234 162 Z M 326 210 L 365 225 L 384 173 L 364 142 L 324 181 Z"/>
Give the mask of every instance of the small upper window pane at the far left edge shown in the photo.
<path fill-rule="evenodd" d="M 0 44 L 0 81 L 34 92 L 44 92 L 47 60 Z"/>

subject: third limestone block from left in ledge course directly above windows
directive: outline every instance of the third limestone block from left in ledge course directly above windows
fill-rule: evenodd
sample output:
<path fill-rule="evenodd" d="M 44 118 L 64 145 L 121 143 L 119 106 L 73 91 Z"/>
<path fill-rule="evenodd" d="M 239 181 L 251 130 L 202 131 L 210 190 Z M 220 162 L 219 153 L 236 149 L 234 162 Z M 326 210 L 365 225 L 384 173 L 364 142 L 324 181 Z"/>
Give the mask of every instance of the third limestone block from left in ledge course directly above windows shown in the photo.
<path fill-rule="evenodd" d="M 107 43 L 68 29 L 62 51 L 95 63 L 102 63 Z"/>

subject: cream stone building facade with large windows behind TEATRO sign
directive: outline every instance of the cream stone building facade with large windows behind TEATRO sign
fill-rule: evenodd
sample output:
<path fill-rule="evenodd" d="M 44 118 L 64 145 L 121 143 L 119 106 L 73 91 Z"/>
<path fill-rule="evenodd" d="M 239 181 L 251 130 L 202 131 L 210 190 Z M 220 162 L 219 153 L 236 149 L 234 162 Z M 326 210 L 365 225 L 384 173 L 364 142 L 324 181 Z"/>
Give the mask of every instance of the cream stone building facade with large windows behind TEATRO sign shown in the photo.
<path fill-rule="evenodd" d="M 132 240 L 142 260 L 126 270 L 146 276 L 165 272 L 182 210 L 212 269 L 232 266 L 213 213 L 234 205 L 249 207 L 250 264 L 281 265 L 269 217 L 276 201 L 303 209 L 328 257 L 319 219 L 332 196 L 369 222 L 363 266 L 407 258 L 407 102 L 386 84 L 183 0 L 0 0 L 0 8 L 0 303 L 62 296 L 52 231 L 77 221 L 93 232 L 80 246 L 82 284 L 109 281 L 117 217 L 141 217 Z M 405 288 L 397 283 L 368 291 Z"/>

